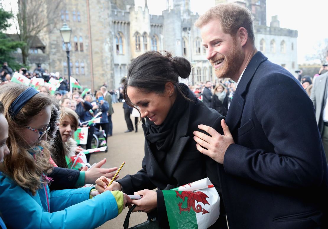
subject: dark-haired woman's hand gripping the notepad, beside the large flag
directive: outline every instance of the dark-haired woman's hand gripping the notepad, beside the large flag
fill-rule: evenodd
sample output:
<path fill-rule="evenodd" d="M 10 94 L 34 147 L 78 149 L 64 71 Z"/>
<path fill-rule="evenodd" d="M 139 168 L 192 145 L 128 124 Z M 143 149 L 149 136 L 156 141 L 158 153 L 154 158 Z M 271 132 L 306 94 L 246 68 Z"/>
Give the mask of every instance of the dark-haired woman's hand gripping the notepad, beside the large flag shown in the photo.
<path fill-rule="evenodd" d="M 138 192 L 134 192 L 134 195 L 140 195 L 143 197 L 141 199 L 131 200 L 132 204 L 137 205 L 133 209 L 133 212 L 142 211 L 148 213 L 157 207 L 157 194 L 155 191 L 144 189 Z"/>

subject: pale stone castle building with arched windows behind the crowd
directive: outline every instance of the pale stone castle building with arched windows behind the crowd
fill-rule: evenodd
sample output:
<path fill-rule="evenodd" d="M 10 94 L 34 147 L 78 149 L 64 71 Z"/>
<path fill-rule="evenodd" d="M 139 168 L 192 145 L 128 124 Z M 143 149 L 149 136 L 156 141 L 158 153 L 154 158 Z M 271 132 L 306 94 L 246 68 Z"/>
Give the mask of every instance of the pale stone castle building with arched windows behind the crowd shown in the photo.
<path fill-rule="evenodd" d="M 215 1 L 220 2 L 226 1 Z M 255 15 L 257 49 L 272 62 L 295 72 L 297 31 L 280 28 L 276 16 L 270 27 L 266 26 L 266 0 L 236 2 Z M 167 50 L 186 57 L 195 70 L 191 84 L 215 82 L 213 68 L 201 45 L 200 31 L 194 26 L 199 15 L 190 10 L 190 0 L 173 0 L 172 6 L 167 3 L 162 15 L 149 14 L 147 0 L 144 9 L 137 10 L 134 0 L 64 0 L 64 3 L 59 25 L 65 20 L 72 28 L 71 73 L 83 87 L 98 89 L 107 83 L 109 89 L 117 88 L 127 75 L 131 61 L 150 50 Z M 67 58 L 59 28 L 40 36 L 45 44 L 43 52 L 48 56 L 43 67 L 67 76 Z"/>

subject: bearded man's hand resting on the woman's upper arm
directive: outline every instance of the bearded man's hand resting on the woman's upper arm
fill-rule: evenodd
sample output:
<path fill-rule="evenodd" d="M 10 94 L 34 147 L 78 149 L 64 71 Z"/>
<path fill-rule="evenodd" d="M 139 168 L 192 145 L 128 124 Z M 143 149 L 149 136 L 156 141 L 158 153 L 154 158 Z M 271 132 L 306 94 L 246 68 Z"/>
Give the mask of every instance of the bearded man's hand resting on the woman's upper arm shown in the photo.
<path fill-rule="evenodd" d="M 223 128 L 224 135 L 217 133 L 212 127 L 198 125 L 199 129 L 207 132 L 212 137 L 199 131 L 194 131 L 194 140 L 197 142 L 196 147 L 200 153 L 211 157 L 220 164 L 223 164 L 223 158 L 226 150 L 235 142 L 224 119 L 221 120 L 221 126 Z"/>

